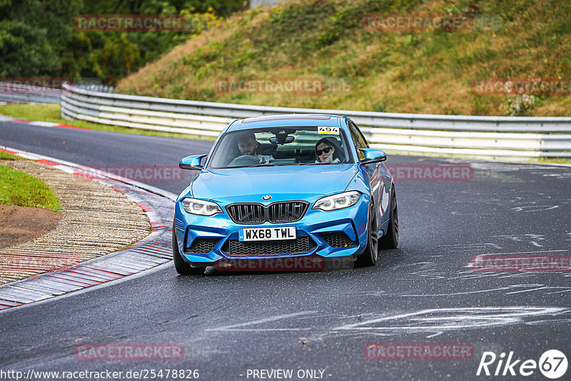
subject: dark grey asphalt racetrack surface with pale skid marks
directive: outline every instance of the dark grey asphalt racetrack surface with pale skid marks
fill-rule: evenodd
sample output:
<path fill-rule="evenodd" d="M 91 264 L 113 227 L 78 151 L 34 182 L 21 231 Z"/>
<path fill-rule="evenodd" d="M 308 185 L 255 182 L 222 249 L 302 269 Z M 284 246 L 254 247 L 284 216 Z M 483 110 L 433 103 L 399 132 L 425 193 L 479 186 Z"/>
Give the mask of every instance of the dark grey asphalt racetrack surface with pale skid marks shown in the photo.
<path fill-rule="evenodd" d="M 0 122 L 1 145 L 86 166 L 176 166 L 211 143 Z M 181 277 L 168 263 L 10 308 L 0 313 L 0 370 L 187 369 L 199 370 L 201 380 L 259 380 L 247 377 L 248 369 L 290 369 L 292 380 L 300 379 L 298 370 L 323 370 L 325 380 L 547 380 L 537 369 L 529 377 L 476 372 L 485 351 L 538 361 L 557 349 L 571 360 L 571 273 L 478 272 L 470 260 L 570 255 L 571 167 L 404 156 L 387 163 L 468 164 L 473 178 L 397 181 L 400 245 L 382 252 L 373 268 L 209 268 L 205 276 Z M 188 178 L 151 185 L 178 193 Z M 371 360 L 363 352 L 368 343 L 411 342 L 468 343 L 473 357 Z M 74 347 L 89 343 L 177 343 L 185 351 L 183 360 L 77 359 Z"/>

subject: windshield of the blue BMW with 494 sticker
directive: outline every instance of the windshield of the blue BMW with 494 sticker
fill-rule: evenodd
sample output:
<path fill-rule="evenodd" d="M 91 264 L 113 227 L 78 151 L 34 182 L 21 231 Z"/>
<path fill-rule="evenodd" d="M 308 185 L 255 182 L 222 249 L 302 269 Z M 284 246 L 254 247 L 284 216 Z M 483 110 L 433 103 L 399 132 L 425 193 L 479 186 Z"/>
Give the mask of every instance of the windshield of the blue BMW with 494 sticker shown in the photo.
<path fill-rule="evenodd" d="M 226 133 L 207 168 L 350 163 L 347 139 L 331 126 L 268 127 Z"/>

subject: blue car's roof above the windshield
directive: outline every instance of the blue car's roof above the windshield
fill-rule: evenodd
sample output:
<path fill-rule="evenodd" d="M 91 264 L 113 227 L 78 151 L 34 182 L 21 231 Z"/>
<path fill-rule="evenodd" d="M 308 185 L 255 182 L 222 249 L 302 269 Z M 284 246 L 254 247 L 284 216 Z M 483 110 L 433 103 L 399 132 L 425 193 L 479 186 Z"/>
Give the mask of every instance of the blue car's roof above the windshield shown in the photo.
<path fill-rule="evenodd" d="M 292 113 L 285 115 L 264 115 L 254 118 L 239 119 L 228 126 L 227 131 L 246 130 L 261 127 L 282 127 L 282 126 L 333 126 L 338 127 L 343 124 L 340 119 L 345 116 L 329 115 L 321 113 Z"/>

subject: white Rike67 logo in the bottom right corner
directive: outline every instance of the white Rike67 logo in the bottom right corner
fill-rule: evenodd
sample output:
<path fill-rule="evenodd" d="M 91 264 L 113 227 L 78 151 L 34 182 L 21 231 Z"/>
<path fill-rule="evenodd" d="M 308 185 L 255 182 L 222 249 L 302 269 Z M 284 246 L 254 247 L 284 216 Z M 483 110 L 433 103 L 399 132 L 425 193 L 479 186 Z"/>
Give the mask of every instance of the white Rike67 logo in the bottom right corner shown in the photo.
<path fill-rule="evenodd" d="M 497 363 L 495 363 L 496 360 Z M 476 375 L 530 376 L 539 369 L 542 375 L 555 380 L 565 375 L 567 365 L 567 357 L 560 350 L 545 351 L 538 362 L 515 357 L 513 351 L 510 351 L 507 358 L 505 358 L 505 352 L 500 353 L 499 357 L 494 352 L 484 352 Z"/>

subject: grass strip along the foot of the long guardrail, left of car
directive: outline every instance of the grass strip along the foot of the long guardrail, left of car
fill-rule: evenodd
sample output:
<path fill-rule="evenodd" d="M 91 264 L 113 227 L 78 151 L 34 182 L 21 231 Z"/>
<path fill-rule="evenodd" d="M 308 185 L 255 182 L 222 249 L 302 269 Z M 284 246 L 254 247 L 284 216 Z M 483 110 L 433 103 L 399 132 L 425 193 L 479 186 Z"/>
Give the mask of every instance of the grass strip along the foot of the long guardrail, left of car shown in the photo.
<path fill-rule="evenodd" d="M 68 121 L 61 118 L 59 103 L 49 104 L 8 104 L 0 106 L 0 113 L 12 116 L 14 118 L 22 118 L 31 121 L 43 121 L 65 124 L 66 126 L 74 126 L 79 128 L 88 128 L 89 130 L 111 131 L 121 133 L 138 133 L 139 135 L 169 136 L 171 138 L 201 138 L 213 140 L 202 136 L 186 135 L 183 133 L 168 133 L 162 131 L 142 130 L 139 128 L 128 128 L 121 126 L 108 126 L 106 124 L 91 123 L 87 121 Z"/>

